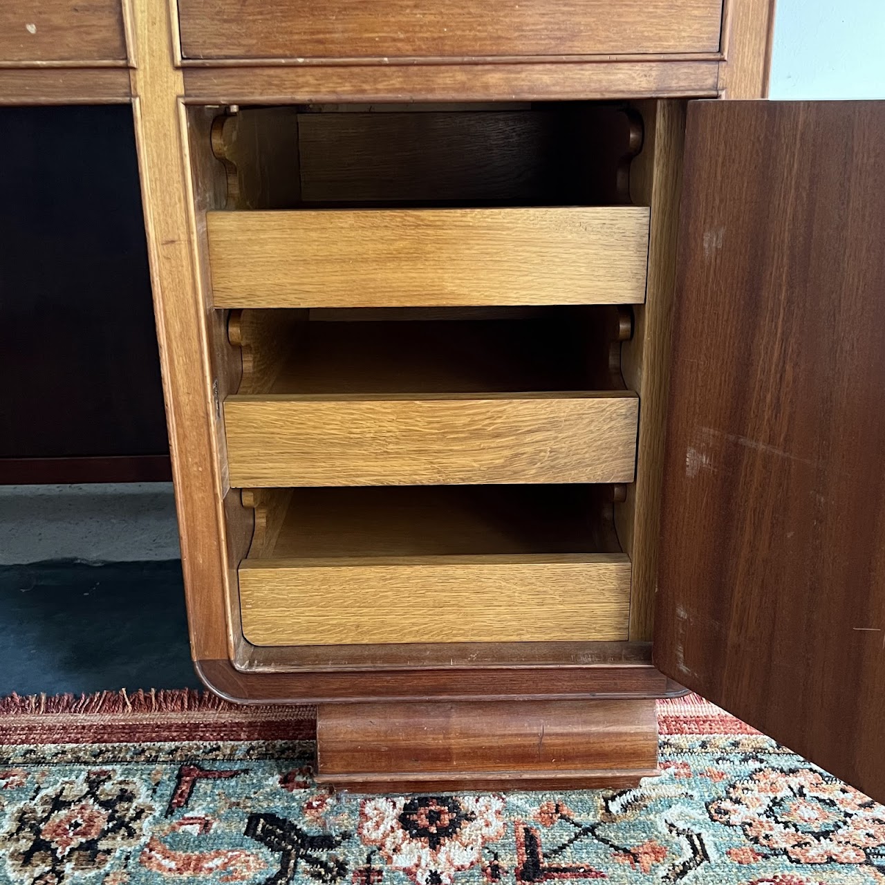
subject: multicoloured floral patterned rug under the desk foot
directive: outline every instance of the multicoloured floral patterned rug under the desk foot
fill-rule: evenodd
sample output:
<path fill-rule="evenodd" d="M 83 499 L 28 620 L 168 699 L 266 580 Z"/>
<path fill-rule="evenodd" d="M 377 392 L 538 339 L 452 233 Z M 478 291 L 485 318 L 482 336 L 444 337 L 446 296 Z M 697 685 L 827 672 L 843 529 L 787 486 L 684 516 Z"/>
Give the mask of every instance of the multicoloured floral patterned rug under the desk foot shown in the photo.
<path fill-rule="evenodd" d="M 38 713 L 6 718 L 0 882 L 885 885 L 885 807 L 696 700 L 661 704 L 660 777 L 549 794 L 331 794 L 312 742 L 281 736 L 304 713 L 248 715 L 189 732 L 181 712 L 165 741 L 158 714 L 137 742 L 113 740 L 131 711 L 52 743 L 29 737 Z"/>

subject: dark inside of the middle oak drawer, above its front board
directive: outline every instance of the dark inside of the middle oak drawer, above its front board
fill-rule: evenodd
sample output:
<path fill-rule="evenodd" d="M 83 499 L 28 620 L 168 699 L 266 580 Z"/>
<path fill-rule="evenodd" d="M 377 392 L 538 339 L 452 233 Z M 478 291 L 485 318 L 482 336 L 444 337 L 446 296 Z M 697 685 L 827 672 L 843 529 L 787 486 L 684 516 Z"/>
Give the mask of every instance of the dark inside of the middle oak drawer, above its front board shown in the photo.
<path fill-rule="evenodd" d="M 245 310 L 239 395 L 622 390 L 628 310 Z"/>

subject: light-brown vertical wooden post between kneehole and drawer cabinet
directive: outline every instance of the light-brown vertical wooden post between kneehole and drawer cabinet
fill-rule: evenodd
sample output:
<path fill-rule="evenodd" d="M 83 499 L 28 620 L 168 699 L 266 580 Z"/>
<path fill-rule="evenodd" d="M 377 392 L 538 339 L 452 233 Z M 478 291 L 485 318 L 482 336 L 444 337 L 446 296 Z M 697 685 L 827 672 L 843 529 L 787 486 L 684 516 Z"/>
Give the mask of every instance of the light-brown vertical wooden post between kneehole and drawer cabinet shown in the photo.
<path fill-rule="evenodd" d="M 172 23 L 165 3 L 133 4 L 135 140 L 166 418 L 170 428 L 181 566 L 194 658 L 227 658 L 227 550 L 218 457 L 210 316 L 200 288 L 195 200 L 181 72 L 170 64 Z"/>

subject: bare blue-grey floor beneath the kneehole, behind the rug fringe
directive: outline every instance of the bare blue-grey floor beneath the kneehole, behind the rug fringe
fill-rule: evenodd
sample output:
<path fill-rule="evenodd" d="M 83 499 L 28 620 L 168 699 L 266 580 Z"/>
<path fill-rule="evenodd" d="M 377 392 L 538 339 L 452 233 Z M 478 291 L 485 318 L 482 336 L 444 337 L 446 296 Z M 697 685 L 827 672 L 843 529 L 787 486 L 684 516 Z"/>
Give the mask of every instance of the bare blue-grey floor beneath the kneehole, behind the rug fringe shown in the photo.
<path fill-rule="evenodd" d="M 0 487 L 0 695 L 198 686 L 172 486 Z"/>

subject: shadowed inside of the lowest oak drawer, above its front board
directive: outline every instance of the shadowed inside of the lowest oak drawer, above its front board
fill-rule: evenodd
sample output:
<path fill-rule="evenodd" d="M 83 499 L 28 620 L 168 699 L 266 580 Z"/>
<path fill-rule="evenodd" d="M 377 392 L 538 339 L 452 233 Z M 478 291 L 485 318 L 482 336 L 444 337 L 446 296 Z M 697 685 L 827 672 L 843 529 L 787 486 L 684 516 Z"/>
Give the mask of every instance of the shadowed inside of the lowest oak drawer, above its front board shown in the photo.
<path fill-rule="evenodd" d="M 612 486 L 247 489 L 250 558 L 620 553 Z"/>

